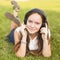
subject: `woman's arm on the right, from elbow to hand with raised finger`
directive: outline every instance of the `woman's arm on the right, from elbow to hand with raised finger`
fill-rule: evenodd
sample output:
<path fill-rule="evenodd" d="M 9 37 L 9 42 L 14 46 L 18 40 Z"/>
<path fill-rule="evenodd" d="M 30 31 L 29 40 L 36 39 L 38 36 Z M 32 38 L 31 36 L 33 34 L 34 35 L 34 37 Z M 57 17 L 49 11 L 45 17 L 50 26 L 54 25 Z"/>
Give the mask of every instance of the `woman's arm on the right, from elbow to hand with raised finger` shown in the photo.
<path fill-rule="evenodd" d="M 51 47 L 50 47 L 50 32 L 48 33 L 48 29 L 47 29 L 47 25 L 46 27 L 43 27 L 41 29 L 41 33 L 42 33 L 42 39 L 43 39 L 43 50 L 42 50 L 42 54 L 44 57 L 50 57 L 51 56 Z M 47 36 L 49 35 L 49 40 L 47 38 Z"/>

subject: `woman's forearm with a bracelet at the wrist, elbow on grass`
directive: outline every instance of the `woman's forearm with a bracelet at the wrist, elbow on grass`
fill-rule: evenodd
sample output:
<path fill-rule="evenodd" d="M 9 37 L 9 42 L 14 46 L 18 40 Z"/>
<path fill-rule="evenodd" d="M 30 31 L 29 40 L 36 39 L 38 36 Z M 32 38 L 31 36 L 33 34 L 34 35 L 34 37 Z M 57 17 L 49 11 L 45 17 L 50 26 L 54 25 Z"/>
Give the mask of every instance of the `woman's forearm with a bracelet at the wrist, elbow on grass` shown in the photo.
<path fill-rule="evenodd" d="M 20 48 L 19 50 L 16 52 L 16 55 L 18 57 L 24 57 L 26 54 L 26 38 L 23 37 L 22 40 L 21 40 L 21 45 L 20 45 Z"/>

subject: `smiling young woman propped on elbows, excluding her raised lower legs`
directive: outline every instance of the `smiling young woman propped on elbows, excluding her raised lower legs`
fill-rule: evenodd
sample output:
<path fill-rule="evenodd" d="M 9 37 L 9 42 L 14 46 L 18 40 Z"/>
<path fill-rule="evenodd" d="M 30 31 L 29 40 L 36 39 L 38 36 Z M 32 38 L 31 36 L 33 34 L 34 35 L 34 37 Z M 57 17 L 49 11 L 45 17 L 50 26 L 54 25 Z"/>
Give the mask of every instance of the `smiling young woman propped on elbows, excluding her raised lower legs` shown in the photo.
<path fill-rule="evenodd" d="M 8 39 L 14 43 L 16 56 L 24 57 L 27 54 L 51 56 L 50 30 L 47 18 L 40 9 L 28 11 L 24 17 L 24 25 L 20 27 L 12 23 Z M 17 26 L 17 28 L 16 28 Z"/>

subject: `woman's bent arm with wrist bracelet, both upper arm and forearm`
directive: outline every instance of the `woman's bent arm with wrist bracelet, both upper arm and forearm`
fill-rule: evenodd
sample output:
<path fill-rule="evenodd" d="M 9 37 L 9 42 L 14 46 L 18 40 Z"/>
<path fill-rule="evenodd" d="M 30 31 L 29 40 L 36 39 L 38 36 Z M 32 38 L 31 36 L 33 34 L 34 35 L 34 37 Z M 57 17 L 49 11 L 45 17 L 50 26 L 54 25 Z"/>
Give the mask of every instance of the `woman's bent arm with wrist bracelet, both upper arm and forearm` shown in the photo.
<path fill-rule="evenodd" d="M 18 49 L 17 52 L 15 52 L 16 56 L 18 57 L 24 57 L 26 54 L 26 37 L 27 37 L 27 32 L 24 30 L 22 32 L 22 40 L 21 40 L 21 44 L 20 47 Z M 15 44 L 19 41 L 19 37 L 21 36 L 21 34 L 17 33 L 16 31 L 14 32 L 14 38 L 15 38 Z"/>

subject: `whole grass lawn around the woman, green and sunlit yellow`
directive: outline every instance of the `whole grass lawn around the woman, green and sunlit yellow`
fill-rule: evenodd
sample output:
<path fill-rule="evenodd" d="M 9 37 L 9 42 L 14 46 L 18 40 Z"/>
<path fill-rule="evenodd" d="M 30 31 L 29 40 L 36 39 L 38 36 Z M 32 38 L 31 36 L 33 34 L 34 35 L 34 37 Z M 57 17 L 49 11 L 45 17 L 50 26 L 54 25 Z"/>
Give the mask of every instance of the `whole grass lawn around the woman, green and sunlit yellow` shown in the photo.
<path fill-rule="evenodd" d="M 3 3 L 3 4 L 2 4 Z M 36 4 L 33 4 L 36 3 Z M 39 3 L 35 0 L 30 2 L 18 2 L 21 7 L 19 18 L 23 22 L 25 13 L 31 8 L 37 7 L 46 13 L 49 27 L 51 29 L 51 50 L 52 56 L 45 58 L 43 56 L 26 56 L 18 58 L 13 53 L 13 45 L 6 41 L 6 35 L 10 31 L 10 21 L 4 16 L 5 12 L 13 12 L 10 1 L 2 0 L 0 2 L 0 60 L 59 60 L 60 59 L 60 0 L 43 0 Z M 23 5 L 24 4 L 24 5 Z M 31 4 L 31 5 L 27 5 Z M 33 4 L 33 6 L 32 6 Z"/>

